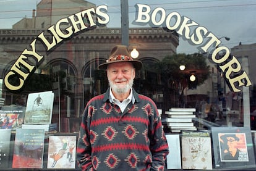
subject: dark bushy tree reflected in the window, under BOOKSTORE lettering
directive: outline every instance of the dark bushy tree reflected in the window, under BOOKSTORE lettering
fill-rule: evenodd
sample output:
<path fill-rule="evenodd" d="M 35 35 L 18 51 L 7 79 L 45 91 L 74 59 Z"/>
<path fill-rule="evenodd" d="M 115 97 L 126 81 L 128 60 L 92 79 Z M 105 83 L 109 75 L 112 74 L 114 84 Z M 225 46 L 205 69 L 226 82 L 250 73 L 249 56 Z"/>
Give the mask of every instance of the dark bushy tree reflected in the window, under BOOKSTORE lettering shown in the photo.
<path fill-rule="evenodd" d="M 185 65 L 186 68 L 180 70 L 180 65 Z M 161 75 L 165 110 L 170 107 L 186 107 L 185 88 L 196 88 L 210 76 L 210 66 L 207 65 L 203 54 L 198 53 L 166 56 L 155 63 L 155 69 Z M 192 73 L 195 75 L 195 81 L 189 80 Z"/>

